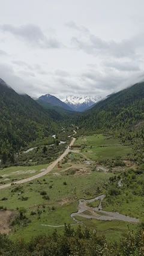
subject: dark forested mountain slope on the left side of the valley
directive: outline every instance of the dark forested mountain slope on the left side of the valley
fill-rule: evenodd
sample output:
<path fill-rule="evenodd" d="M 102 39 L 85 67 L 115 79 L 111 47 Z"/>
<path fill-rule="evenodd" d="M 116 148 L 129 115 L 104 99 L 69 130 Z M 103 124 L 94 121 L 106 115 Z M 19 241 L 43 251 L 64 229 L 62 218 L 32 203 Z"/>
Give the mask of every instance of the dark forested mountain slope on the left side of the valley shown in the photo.
<path fill-rule="evenodd" d="M 19 95 L 0 79 L 0 154 L 19 150 L 55 131 L 62 115 L 45 109 L 28 95 Z M 55 121 L 55 122 L 54 122 Z"/>

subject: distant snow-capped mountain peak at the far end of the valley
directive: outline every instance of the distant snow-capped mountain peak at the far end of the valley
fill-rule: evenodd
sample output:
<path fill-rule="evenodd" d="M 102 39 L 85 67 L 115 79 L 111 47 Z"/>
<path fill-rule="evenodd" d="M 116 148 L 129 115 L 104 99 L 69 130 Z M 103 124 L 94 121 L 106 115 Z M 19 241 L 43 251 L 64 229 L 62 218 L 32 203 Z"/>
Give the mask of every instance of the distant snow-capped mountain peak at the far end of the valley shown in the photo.
<path fill-rule="evenodd" d="M 101 100 L 101 96 L 66 96 L 65 99 L 62 99 L 62 102 L 70 106 L 74 111 L 84 111 Z"/>

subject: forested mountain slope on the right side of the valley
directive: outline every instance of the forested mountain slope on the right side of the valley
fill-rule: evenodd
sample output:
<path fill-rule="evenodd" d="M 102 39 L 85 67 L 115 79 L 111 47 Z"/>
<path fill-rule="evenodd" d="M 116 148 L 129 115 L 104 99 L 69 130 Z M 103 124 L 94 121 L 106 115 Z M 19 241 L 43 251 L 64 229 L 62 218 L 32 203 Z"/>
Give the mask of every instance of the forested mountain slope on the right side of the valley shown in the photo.
<path fill-rule="evenodd" d="M 77 118 L 76 124 L 85 130 L 113 130 L 122 138 L 143 138 L 144 82 L 112 94 Z"/>

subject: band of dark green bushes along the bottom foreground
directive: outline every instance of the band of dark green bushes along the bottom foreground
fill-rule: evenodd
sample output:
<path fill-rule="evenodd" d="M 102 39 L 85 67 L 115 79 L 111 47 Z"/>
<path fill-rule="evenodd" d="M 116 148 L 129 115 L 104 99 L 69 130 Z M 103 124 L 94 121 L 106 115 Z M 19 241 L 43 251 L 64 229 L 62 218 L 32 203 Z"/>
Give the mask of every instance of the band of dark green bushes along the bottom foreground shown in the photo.
<path fill-rule="evenodd" d="M 104 236 L 91 232 L 88 228 L 82 231 L 65 224 L 64 233 L 59 235 L 55 230 L 51 236 L 32 237 L 29 243 L 24 240 L 11 242 L 7 235 L 0 234 L 0 255 L 6 256 L 142 256 L 144 255 L 144 231 L 139 230 L 136 236 L 131 231 L 122 237 L 117 244 L 110 245 Z"/>

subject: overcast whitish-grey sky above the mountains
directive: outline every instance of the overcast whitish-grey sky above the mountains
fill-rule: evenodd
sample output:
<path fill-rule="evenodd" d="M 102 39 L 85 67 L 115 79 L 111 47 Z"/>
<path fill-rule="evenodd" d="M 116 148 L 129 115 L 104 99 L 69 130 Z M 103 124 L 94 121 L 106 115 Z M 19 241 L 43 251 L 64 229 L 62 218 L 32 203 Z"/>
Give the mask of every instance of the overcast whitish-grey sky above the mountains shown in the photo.
<path fill-rule="evenodd" d="M 0 0 L 0 78 L 59 99 L 141 82 L 143 12 L 143 0 Z"/>

